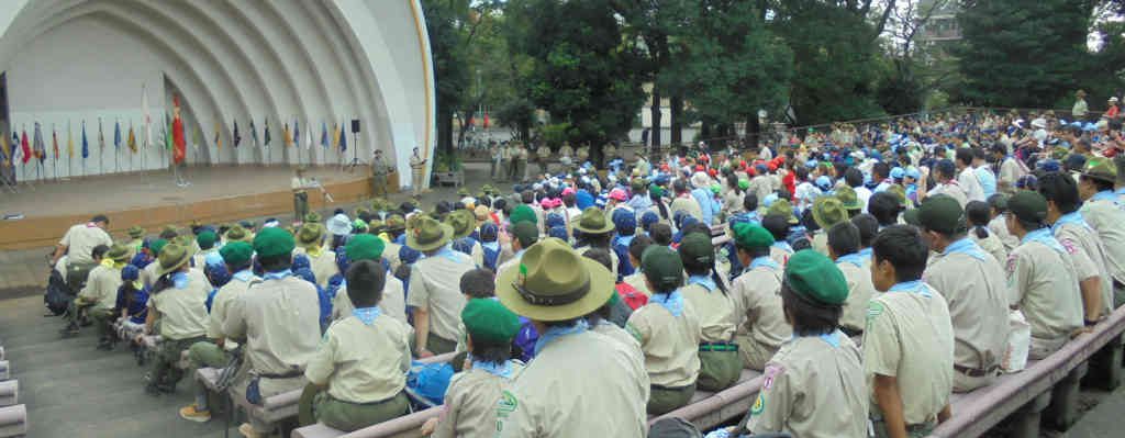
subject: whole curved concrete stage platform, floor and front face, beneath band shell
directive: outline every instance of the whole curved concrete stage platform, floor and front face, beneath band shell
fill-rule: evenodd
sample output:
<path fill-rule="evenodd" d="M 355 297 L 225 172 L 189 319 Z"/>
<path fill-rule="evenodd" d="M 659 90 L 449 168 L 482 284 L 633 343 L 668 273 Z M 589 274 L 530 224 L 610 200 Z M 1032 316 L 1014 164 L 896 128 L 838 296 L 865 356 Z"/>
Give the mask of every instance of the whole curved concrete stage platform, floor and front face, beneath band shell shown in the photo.
<path fill-rule="evenodd" d="M 110 234 L 138 225 L 150 234 L 166 223 L 186 226 L 192 219 L 222 222 L 276 215 L 291 219 L 291 167 L 217 166 L 190 167 L 190 186 L 178 188 L 170 172 L 122 174 L 20 185 L 19 193 L 0 193 L 0 215 L 21 213 L 21 220 L 0 220 L 0 249 L 52 246 L 66 229 L 92 215 L 110 219 Z M 310 167 L 336 203 L 370 198 L 370 167 L 353 173 L 339 167 Z M 392 174 L 388 188 L 397 188 Z M 331 207 L 315 191 L 309 204 Z M 287 220 L 286 220 L 287 221 Z"/>

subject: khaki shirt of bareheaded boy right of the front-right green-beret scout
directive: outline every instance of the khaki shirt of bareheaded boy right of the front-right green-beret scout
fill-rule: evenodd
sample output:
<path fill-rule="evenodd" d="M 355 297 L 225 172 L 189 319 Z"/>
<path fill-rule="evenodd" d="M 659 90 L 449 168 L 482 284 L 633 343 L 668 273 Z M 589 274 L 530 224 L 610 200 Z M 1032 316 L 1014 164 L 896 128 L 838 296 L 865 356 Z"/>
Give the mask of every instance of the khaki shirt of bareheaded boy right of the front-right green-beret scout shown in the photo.
<path fill-rule="evenodd" d="M 875 375 L 897 377 L 906 425 L 936 423 L 953 391 L 953 326 L 945 299 L 921 281 L 873 298 L 863 331 L 863 367 L 876 414 Z"/>

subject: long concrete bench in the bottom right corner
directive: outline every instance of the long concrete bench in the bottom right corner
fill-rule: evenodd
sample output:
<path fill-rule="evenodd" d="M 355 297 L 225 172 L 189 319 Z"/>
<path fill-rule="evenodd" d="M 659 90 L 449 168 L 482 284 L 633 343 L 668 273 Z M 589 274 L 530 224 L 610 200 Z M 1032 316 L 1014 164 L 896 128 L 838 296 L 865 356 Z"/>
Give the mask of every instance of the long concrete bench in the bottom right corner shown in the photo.
<path fill-rule="evenodd" d="M 973 392 L 953 394 L 953 417 L 930 436 L 976 437 L 1009 417 L 1012 437 L 1038 437 L 1041 422 L 1065 431 L 1078 418 L 1079 383 L 1088 372 L 1109 389 L 1119 384 L 1123 330 L 1125 308 L 1043 361 L 1029 361 L 1024 371 L 1002 375 Z M 1089 363 L 1091 357 L 1094 363 Z M 1046 421 L 1041 421 L 1044 417 Z"/>

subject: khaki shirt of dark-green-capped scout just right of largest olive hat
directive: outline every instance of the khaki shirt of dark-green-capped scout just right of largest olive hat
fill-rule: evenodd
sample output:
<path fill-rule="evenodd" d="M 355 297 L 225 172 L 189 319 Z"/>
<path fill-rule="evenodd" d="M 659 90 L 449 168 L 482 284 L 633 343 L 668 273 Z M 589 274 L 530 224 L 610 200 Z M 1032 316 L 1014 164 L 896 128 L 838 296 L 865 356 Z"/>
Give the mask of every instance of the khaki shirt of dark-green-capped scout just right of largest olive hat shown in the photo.
<path fill-rule="evenodd" d="M 687 299 L 678 317 L 650 301 L 629 316 L 626 329 L 640 341 L 645 369 L 654 385 L 682 387 L 695 383 L 703 332 L 699 314 Z"/>

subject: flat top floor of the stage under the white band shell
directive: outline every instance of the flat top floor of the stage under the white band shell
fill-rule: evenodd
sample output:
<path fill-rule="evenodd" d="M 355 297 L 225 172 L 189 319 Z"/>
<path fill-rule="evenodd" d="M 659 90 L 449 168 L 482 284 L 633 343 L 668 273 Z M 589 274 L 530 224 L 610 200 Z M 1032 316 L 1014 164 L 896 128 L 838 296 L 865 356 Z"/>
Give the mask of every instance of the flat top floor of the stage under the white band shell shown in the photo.
<path fill-rule="evenodd" d="M 367 166 L 357 167 L 354 173 L 340 172 L 339 167 L 314 167 L 306 172 L 306 176 L 316 177 L 327 186 L 364 179 L 369 176 L 368 172 Z M 19 193 L 0 192 L 0 215 L 21 213 L 30 219 L 218 201 L 287 191 L 292 176 L 290 167 L 224 166 L 189 167 L 187 179 L 191 185 L 186 188 L 177 186 L 169 172 L 21 184 Z M 314 197 L 309 194 L 309 198 Z"/>

